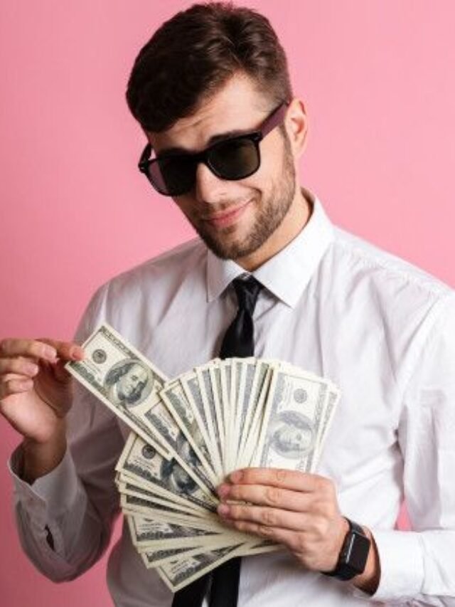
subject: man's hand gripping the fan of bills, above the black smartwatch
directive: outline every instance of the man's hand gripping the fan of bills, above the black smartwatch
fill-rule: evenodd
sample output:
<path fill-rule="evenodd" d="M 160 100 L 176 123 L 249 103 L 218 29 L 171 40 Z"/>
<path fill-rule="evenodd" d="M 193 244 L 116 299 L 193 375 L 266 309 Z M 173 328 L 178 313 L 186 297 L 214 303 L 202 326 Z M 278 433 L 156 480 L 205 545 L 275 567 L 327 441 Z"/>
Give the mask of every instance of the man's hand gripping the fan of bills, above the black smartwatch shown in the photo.
<path fill-rule="evenodd" d="M 306 569 L 335 569 L 349 526 L 331 480 L 294 470 L 245 468 L 228 481 L 218 487 L 218 514 L 225 524 L 284 544 Z M 247 503 L 226 503 L 231 500 Z M 371 593 L 378 575 L 373 545 L 364 574 L 353 583 Z"/>

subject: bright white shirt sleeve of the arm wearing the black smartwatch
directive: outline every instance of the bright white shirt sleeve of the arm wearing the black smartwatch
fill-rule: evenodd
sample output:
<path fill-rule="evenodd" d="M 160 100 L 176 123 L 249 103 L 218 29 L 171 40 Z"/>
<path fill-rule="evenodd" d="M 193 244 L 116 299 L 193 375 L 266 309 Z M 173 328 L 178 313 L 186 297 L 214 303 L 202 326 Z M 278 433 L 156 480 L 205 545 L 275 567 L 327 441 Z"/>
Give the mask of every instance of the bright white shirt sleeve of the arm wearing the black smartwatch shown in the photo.
<path fill-rule="evenodd" d="M 412 531 L 374 530 L 375 601 L 455 606 L 455 297 L 432 312 L 405 384 L 398 441 Z"/>

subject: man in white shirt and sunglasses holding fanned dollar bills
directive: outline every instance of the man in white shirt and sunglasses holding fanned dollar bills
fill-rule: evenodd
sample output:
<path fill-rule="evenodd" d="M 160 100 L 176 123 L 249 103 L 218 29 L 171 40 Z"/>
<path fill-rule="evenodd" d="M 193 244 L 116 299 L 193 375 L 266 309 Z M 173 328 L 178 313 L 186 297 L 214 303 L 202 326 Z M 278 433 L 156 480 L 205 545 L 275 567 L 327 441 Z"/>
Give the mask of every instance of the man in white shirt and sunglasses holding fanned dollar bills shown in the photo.
<path fill-rule="evenodd" d="M 200 238 L 101 287 L 75 341 L 107 320 L 175 376 L 218 354 L 247 273 L 262 285 L 255 354 L 343 392 L 317 475 L 239 470 L 219 487 L 225 524 L 284 546 L 242 559 L 239 605 L 454 604 L 453 292 L 334 228 L 301 187 L 304 105 L 254 11 L 196 5 L 164 23 L 127 99 L 149 142 L 141 171 Z M 127 429 L 79 386 L 71 396 L 75 344 L 0 352 L 1 412 L 24 436 L 11 460 L 21 542 L 45 575 L 72 579 L 109 542 Z M 413 532 L 394 529 L 403 497 Z M 171 605 L 126 530 L 108 584 L 119 606 Z"/>

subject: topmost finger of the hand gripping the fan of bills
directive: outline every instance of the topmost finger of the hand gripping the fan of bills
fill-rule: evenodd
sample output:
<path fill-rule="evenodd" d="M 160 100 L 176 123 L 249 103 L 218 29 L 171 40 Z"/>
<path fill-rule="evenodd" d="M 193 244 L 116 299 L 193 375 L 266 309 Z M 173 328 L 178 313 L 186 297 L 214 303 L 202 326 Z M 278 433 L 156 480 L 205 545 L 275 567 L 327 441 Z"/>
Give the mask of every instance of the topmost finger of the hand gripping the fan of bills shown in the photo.
<path fill-rule="evenodd" d="M 316 474 L 279 468 L 244 468 L 231 473 L 229 480 L 235 485 L 268 485 L 302 492 L 319 491 L 330 482 Z"/>

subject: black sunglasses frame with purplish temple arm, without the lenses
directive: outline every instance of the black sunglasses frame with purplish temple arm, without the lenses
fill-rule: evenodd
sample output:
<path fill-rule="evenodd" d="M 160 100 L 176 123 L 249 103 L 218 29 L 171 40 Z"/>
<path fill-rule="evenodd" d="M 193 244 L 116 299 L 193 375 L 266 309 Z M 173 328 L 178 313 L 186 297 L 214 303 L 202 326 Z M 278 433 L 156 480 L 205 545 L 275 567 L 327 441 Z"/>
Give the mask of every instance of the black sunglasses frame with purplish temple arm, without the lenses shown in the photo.
<path fill-rule="evenodd" d="M 156 157 L 156 158 L 151 159 L 150 157 L 151 157 L 151 152 L 153 151 L 153 148 L 151 147 L 151 144 L 148 143 L 148 144 L 146 144 L 146 147 L 144 148 L 144 151 L 142 152 L 141 157 L 139 159 L 139 164 L 137 165 L 139 168 L 139 171 L 141 171 L 141 173 L 144 173 L 147 180 L 151 183 L 151 185 L 154 187 L 154 189 L 156 189 L 156 191 L 158 191 L 159 194 L 162 194 L 163 196 L 182 196 L 183 194 L 188 194 L 188 192 L 191 191 L 191 189 L 193 189 L 193 187 L 194 187 L 194 184 L 193 184 L 191 189 L 186 189 L 185 191 L 178 192 L 178 194 L 169 193 L 168 191 L 163 191 L 153 181 L 151 174 L 149 172 L 149 167 L 151 166 L 151 164 L 159 163 L 159 161 L 161 159 L 165 159 L 165 158 L 170 158 L 170 157 L 173 159 L 184 158 L 184 159 L 186 159 L 186 161 L 188 161 L 188 159 L 189 159 L 189 160 L 191 160 L 191 162 L 193 162 L 195 164 L 195 166 L 197 166 L 200 162 L 203 162 L 205 164 L 205 166 L 208 167 L 215 176 L 217 176 L 219 179 L 223 179 L 225 181 L 240 181 L 240 179 L 246 179 L 247 177 L 251 176 L 252 174 L 255 174 L 255 172 L 257 170 L 259 170 L 259 167 L 261 166 L 261 153 L 260 153 L 260 149 L 259 149 L 259 142 L 261 142 L 262 139 L 264 139 L 264 137 L 266 137 L 269 134 L 269 132 L 274 130 L 275 127 L 282 124 L 282 122 L 284 120 L 284 116 L 286 115 L 288 106 L 289 106 L 288 101 L 283 101 L 282 103 L 280 103 L 279 106 L 276 107 L 272 111 L 272 113 L 264 120 L 264 122 L 262 122 L 262 125 L 260 125 L 259 129 L 256 129 L 252 132 L 247 132 L 247 133 L 243 133 L 240 135 L 236 135 L 235 137 L 227 137 L 226 139 L 222 139 L 221 141 L 216 142 L 213 145 L 210 145 L 209 147 L 206 147 L 201 152 L 193 152 L 193 153 L 188 152 L 188 154 L 173 154 L 169 157 L 161 156 L 161 157 Z M 242 141 L 245 139 L 252 141 L 255 144 L 256 153 L 257 153 L 257 161 L 258 161 L 257 167 L 253 171 L 250 171 L 250 173 L 242 175 L 241 177 L 235 177 L 235 178 L 231 178 L 231 179 L 226 178 L 225 176 L 220 174 L 219 171 L 217 171 L 217 169 L 215 169 L 215 167 L 213 167 L 213 165 L 211 164 L 210 153 L 213 151 L 213 149 L 223 146 L 227 142 Z"/>

